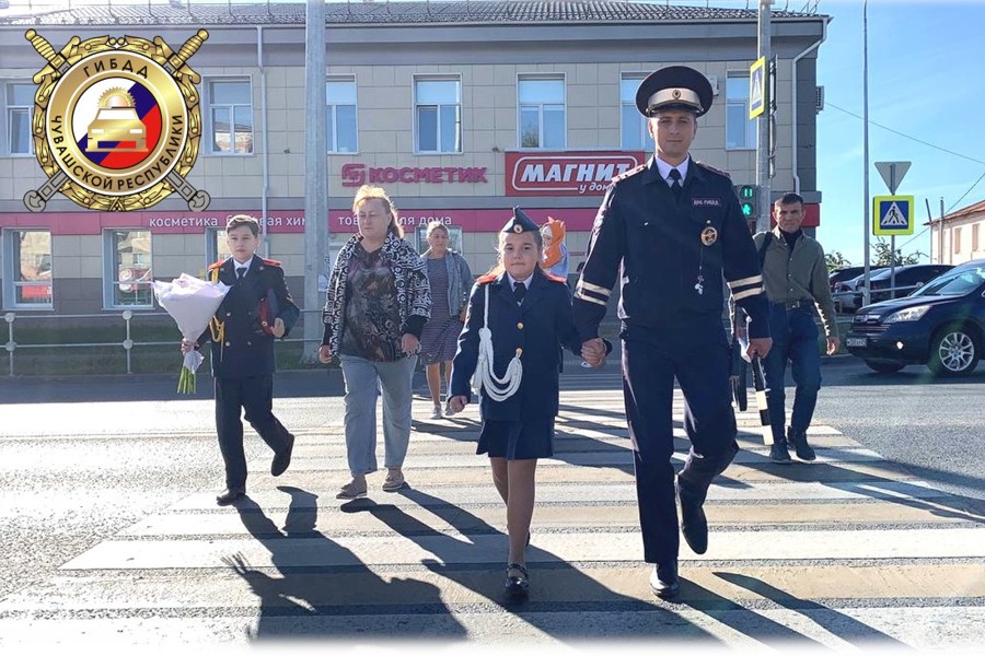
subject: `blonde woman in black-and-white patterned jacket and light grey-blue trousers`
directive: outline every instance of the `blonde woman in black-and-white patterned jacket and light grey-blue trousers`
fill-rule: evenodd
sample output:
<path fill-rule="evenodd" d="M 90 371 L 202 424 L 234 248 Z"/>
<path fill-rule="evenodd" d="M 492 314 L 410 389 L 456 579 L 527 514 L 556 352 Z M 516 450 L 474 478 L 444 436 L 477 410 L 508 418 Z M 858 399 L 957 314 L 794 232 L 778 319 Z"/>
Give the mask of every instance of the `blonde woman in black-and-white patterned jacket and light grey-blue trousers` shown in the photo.
<path fill-rule="evenodd" d="M 333 354 L 346 382 L 346 452 L 352 479 L 337 499 L 367 495 L 366 475 L 376 471 L 376 389 L 383 396 L 383 490 L 404 485 L 410 441 L 410 382 L 420 333 L 430 316 L 427 271 L 404 239 L 396 208 L 381 187 L 363 185 L 352 202 L 358 234 L 335 260 L 322 321 L 318 360 Z"/>

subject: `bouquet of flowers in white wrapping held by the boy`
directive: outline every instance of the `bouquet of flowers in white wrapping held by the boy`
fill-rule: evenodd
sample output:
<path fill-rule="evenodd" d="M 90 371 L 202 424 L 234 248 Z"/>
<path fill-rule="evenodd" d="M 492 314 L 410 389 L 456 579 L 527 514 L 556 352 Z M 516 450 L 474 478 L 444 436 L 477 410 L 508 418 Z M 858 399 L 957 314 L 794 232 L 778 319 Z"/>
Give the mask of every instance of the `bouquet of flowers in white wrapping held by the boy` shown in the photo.
<path fill-rule="evenodd" d="M 221 282 L 207 282 L 182 273 L 171 282 L 154 281 L 154 296 L 158 303 L 167 311 L 175 320 L 182 337 L 188 341 L 197 341 L 209 325 L 209 320 L 222 298 L 229 292 L 229 285 Z M 178 376 L 178 394 L 195 391 L 195 372 L 201 366 L 205 356 L 197 350 L 188 351 Z"/>

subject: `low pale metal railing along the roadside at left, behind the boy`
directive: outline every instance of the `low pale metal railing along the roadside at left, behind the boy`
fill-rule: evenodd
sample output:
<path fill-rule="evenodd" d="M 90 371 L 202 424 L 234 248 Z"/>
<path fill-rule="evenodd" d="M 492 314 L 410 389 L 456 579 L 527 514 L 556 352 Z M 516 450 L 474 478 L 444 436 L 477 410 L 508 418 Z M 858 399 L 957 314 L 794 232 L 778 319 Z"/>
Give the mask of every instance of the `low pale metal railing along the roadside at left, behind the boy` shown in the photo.
<path fill-rule="evenodd" d="M 303 321 L 305 314 L 314 314 L 317 319 L 321 321 L 321 309 L 302 309 L 301 311 L 301 320 L 297 326 L 291 330 L 292 335 L 303 335 Z M 8 312 L 3 315 L 4 320 L 7 321 L 7 343 L 4 344 L 4 349 L 7 350 L 7 361 L 8 361 L 8 376 L 14 375 L 14 361 L 16 358 L 18 351 L 21 350 L 35 350 L 35 349 L 47 349 L 47 350 L 57 350 L 57 349 L 92 349 L 92 348 L 120 348 L 124 350 L 126 354 L 126 373 L 134 373 L 134 349 L 139 347 L 174 347 L 175 353 L 177 353 L 178 344 L 181 342 L 181 333 L 177 331 L 177 328 L 174 327 L 175 338 L 166 341 L 162 340 L 149 340 L 149 341 L 137 341 L 132 338 L 134 331 L 134 323 L 139 321 L 141 319 L 161 319 L 162 317 L 167 317 L 167 313 L 164 312 L 137 312 L 135 313 L 131 309 L 124 309 L 119 313 L 103 313 L 103 314 L 78 314 L 78 315 L 38 315 L 35 313 L 21 313 L 18 314 L 15 312 Z M 60 321 L 63 323 L 66 320 L 81 320 L 88 321 L 93 327 L 112 327 L 117 326 L 118 324 L 111 324 L 109 320 L 121 320 L 124 323 L 125 337 L 123 340 L 118 341 L 100 341 L 100 342 L 69 342 L 69 341 L 58 341 L 58 342 L 47 342 L 47 343 L 19 343 L 16 341 L 16 324 L 18 320 L 22 319 L 24 321 L 31 323 L 31 328 L 36 327 L 39 321 Z M 95 320 L 94 320 L 95 319 Z M 97 321 L 99 319 L 103 319 L 103 321 Z M 162 325 L 167 325 L 165 321 L 161 321 Z M 24 330 L 30 330 L 31 328 L 24 328 Z M 304 342 L 303 337 L 291 337 L 285 340 L 280 340 L 283 342 Z"/>

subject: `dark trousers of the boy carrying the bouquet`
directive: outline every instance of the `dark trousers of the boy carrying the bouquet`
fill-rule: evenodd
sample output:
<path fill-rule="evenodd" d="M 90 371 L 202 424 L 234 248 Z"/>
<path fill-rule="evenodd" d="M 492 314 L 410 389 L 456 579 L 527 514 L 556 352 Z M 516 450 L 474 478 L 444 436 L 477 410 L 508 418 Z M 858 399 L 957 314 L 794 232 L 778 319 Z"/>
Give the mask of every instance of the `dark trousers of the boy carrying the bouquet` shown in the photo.
<path fill-rule="evenodd" d="M 288 431 L 274 417 L 274 376 L 216 378 L 216 432 L 225 462 L 227 488 L 246 488 L 246 454 L 243 422 L 246 421 L 274 453 L 287 448 Z"/>

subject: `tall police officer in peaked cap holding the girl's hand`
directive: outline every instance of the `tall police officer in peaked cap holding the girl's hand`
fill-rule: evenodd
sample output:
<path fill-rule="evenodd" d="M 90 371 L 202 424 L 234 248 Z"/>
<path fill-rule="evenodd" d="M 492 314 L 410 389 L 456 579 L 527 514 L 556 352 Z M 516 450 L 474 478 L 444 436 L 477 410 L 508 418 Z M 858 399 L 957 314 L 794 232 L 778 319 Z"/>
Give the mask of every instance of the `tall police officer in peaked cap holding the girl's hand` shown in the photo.
<path fill-rule="evenodd" d="M 575 290 L 575 320 L 599 351 L 599 323 L 617 280 L 623 389 L 636 466 L 650 587 L 680 589 L 677 512 L 671 457 L 674 377 L 684 393 L 691 453 L 676 477 L 681 529 L 696 553 L 708 546 L 702 505 L 711 479 L 739 450 L 722 327 L 725 277 L 750 317 L 750 353 L 770 347 L 763 278 L 728 175 L 691 159 L 697 117 L 711 106 L 708 80 L 674 66 L 645 79 L 636 106 L 657 142 L 649 163 L 610 185 L 595 218 Z"/>

